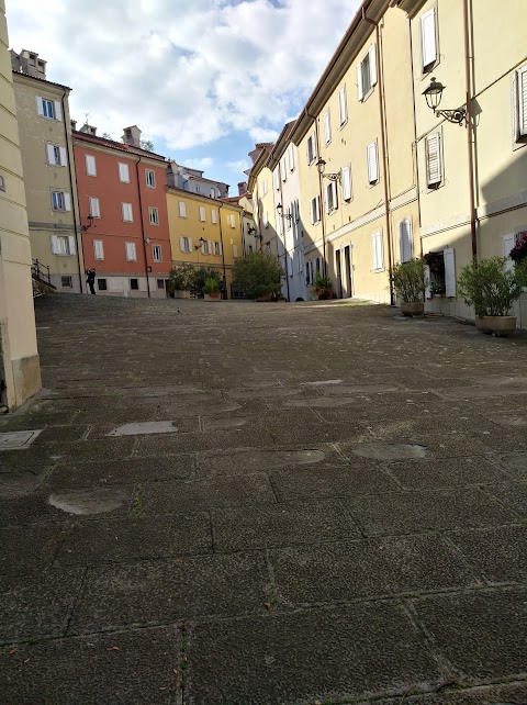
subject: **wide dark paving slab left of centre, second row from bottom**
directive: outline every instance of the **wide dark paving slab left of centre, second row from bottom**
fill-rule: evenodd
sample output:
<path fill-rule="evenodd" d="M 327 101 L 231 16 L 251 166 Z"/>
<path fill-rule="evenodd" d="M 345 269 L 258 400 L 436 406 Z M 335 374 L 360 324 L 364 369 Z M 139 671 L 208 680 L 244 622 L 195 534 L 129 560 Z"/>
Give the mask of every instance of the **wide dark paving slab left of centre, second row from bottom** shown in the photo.
<path fill-rule="evenodd" d="M 261 555 L 203 556 L 88 569 L 71 634 L 197 616 L 266 612 Z"/>

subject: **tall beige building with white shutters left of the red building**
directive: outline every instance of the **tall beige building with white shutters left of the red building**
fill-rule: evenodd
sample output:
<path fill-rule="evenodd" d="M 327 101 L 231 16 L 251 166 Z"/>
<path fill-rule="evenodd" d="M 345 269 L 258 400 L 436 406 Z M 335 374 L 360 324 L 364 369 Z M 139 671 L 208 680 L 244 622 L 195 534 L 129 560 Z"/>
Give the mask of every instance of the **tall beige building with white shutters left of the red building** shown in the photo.
<path fill-rule="evenodd" d="M 66 86 L 38 54 L 11 52 L 33 260 L 57 291 L 81 292 L 83 261 Z"/>

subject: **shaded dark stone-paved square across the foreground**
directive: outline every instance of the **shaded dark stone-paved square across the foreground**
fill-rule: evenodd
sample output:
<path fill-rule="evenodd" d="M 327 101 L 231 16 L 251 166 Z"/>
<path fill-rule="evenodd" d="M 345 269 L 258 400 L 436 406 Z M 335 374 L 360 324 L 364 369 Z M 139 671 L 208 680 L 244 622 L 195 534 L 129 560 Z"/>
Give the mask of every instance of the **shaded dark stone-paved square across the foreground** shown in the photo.
<path fill-rule="evenodd" d="M 527 336 L 36 301 L 1 705 L 527 703 Z M 157 432 L 157 433 L 152 433 Z"/>

